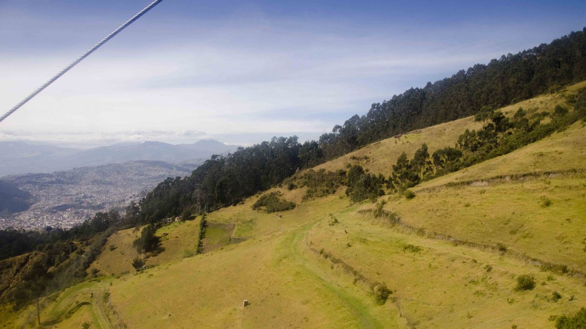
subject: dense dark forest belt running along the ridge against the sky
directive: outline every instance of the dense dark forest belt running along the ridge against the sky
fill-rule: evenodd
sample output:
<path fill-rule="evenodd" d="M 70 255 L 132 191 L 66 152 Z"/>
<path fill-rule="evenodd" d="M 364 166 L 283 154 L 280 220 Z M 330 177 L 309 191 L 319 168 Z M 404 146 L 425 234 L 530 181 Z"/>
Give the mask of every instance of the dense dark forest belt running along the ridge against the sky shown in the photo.
<path fill-rule="evenodd" d="M 372 104 L 318 141 L 273 138 L 212 159 L 185 179 L 166 179 L 141 201 L 145 222 L 183 210 L 236 204 L 298 169 L 319 165 L 377 140 L 498 108 L 586 79 L 586 28 L 549 44 L 476 64 L 423 88 Z"/>

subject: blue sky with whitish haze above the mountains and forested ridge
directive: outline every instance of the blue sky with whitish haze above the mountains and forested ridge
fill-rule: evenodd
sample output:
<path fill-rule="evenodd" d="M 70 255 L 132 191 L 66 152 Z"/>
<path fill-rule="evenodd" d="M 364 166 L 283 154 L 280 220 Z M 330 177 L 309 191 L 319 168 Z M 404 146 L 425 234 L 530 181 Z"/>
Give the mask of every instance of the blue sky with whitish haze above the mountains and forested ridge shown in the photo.
<path fill-rule="evenodd" d="M 0 0 L 0 112 L 148 3 Z M 163 0 L 1 122 L 0 140 L 316 139 L 374 102 L 584 26 L 585 1 Z"/>

